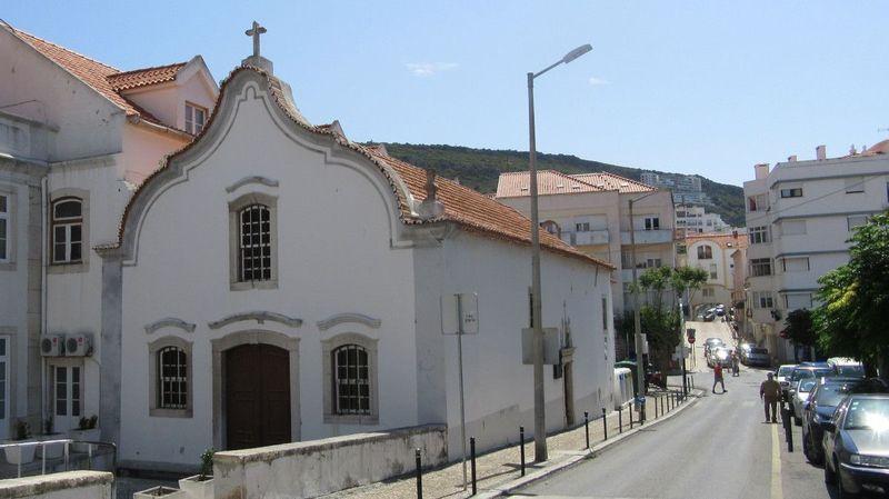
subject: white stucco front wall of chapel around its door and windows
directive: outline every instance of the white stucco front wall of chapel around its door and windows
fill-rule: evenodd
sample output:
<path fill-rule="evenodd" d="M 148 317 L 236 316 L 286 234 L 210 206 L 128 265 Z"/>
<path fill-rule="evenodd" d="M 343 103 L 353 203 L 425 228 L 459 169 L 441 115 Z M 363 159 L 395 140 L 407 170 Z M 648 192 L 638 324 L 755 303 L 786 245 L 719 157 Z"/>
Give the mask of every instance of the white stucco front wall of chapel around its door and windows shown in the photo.
<path fill-rule="evenodd" d="M 193 463 L 214 445 L 210 340 L 246 330 L 299 339 L 300 413 L 292 417 L 299 418 L 302 440 L 417 423 L 413 263 L 410 250 L 390 246 L 386 202 L 391 201 L 386 196 L 392 196 L 391 188 L 369 162 L 333 164 L 306 132 L 286 134 L 266 104 L 249 98 L 241 102 L 226 139 L 200 164 L 190 164 L 188 180 L 160 193 L 141 220 L 136 261 L 123 269 L 122 459 Z M 226 191 L 251 176 L 272 179 L 278 187 L 251 183 Z M 248 192 L 278 198 L 277 289 L 230 290 L 228 202 Z M 208 328 L 208 322 L 252 310 L 303 323 Z M 381 327 L 352 323 L 321 331 L 316 325 L 341 312 L 380 319 Z M 197 329 L 146 333 L 146 325 L 167 317 Z M 323 422 L 328 385 L 321 376 L 321 341 L 340 332 L 378 340 L 378 425 Z M 148 343 L 163 335 L 193 342 L 191 418 L 149 417 Z"/>

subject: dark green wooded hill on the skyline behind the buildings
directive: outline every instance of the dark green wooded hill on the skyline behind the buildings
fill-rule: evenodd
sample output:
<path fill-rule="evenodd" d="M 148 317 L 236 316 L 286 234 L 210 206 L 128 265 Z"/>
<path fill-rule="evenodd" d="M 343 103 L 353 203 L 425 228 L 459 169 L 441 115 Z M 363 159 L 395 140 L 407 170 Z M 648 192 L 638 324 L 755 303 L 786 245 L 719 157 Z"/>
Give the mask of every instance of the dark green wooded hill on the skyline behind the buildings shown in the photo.
<path fill-rule="evenodd" d="M 386 149 L 394 158 L 418 167 L 432 168 L 442 177 L 459 178 L 462 184 L 485 193 L 497 190 L 497 179 L 501 172 L 528 170 L 528 152 L 522 151 L 414 143 L 386 143 Z M 586 160 L 570 154 L 538 153 L 537 163 L 541 170 L 558 170 L 565 173 L 607 171 L 635 180 L 639 180 L 639 174 L 643 171 L 655 171 L 667 178 L 680 176 Z M 701 178 L 703 192 L 712 200 L 711 204 L 707 204 L 707 210 L 721 214 L 727 223 L 742 227 L 743 190 L 737 186 L 698 177 Z"/>

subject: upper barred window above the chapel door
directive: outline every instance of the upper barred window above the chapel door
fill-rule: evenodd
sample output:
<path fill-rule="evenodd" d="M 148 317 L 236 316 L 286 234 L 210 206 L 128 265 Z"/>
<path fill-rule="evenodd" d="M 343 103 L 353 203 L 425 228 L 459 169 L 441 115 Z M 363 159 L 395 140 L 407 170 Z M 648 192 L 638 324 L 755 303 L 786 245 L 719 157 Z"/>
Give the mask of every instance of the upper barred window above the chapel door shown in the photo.
<path fill-rule="evenodd" d="M 271 210 L 266 204 L 249 204 L 238 212 L 238 227 L 239 280 L 271 280 Z"/>

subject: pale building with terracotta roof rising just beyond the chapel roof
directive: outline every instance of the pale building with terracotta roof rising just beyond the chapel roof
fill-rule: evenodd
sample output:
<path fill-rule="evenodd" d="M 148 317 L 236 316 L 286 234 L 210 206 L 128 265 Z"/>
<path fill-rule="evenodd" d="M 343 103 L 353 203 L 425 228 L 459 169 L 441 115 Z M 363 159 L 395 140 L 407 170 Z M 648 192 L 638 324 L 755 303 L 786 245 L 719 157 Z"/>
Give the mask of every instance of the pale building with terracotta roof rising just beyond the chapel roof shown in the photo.
<path fill-rule="evenodd" d="M 497 200 L 530 213 L 530 172 L 501 173 Z M 540 222 L 580 251 L 618 267 L 612 281 L 613 309 L 630 308 L 632 282 L 629 201 L 638 273 L 650 267 L 676 266 L 676 210 L 668 190 L 611 173 L 538 172 Z"/>

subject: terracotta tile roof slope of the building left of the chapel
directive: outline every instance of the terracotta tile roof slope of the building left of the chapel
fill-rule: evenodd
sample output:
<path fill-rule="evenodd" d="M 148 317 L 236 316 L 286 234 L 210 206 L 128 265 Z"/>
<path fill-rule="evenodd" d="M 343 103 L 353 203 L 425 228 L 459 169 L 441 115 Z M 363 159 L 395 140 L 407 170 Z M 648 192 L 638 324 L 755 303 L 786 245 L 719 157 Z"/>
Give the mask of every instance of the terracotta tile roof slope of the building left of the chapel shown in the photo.
<path fill-rule="evenodd" d="M 116 78 L 118 77 L 120 77 L 121 81 L 123 81 L 127 80 L 128 78 L 127 74 L 129 73 L 140 73 L 143 71 L 150 72 L 151 70 L 158 68 L 121 72 L 114 67 L 90 59 L 72 50 L 66 49 L 64 47 L 43 40 L 42 38 L 34 37 L 31 33 L 21 31 L 12 27 L 8 27 L 8 29 L 12 32 L 12 34 L 18 37 L 20 40 L 33 47 L 34 50 L 43 54 L 46 58 L 59 64 L 62 69 L 73 74 L 84 84 L 91 87 L 93 90 L 99 92 L 99 94 L 110 100 L 114 106 L 123 110 L 127 113 L 127 116 L 139 117 L 154 124 L 159 124 L 181 132 L 181 130 L 174 129 L 161 122 L 150 112 L 136 106 L 132 101 L 130 101 L 119 92 L 119 90 L 121 89 L 118 89 L 116 88 L 114 84 L 112 84 L 112 81 L 114 81 Z M 136 78 L 132 77 L 131 81 L 136 81 Z"/>

